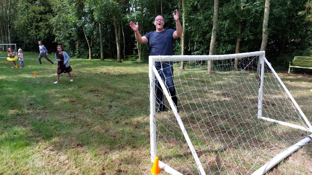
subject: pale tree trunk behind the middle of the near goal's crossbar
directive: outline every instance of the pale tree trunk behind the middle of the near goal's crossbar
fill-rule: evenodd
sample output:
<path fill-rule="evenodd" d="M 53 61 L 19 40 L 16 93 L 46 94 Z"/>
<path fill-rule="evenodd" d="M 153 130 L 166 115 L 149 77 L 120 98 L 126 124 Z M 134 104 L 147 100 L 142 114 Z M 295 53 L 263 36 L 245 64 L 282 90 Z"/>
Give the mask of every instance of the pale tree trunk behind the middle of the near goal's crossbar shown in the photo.
<path fill-rule="evenodd" d="M 218 13 L 219 13 L 219 0 L 214 0 L 213 7 L 213 26 L 212 26 L 212 34 L 209 48 L 209 55 L 214 55 L 214 51 L 216 49 L 216 39 L 217 39 L 217 26 L 218 26 Z M 212 60 L 208 61 L 208 72 L 213 71 Z"/>

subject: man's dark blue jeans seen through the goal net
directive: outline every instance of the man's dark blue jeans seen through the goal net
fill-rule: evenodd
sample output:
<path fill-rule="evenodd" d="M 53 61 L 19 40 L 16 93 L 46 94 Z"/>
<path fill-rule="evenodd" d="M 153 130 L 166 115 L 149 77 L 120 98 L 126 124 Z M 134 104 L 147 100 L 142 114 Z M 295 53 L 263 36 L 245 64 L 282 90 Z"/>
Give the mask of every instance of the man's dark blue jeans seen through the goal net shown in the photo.
<path fill-rule="evenodd" d="M 176 89 L 173 82 L 173 67 L 163 67 L 161 69 L 161 66 L 156 66 L 156 69 L 161 77 L 161 79 L 165 82 L 165 86 L 169 92 L 169 95 L 171 96 L 171 99 L 174 103 L 174 105 L 177 107 L 178 105 L 178 98 L 176 96 Z M 156 100 L 158 103 L 158 110 L 162 111 L 166 109 L 166 106 L 163 105 L 163 90 L 157 80 L 157 77 L 155 78 L 155 88 L 156 88 Z"/>

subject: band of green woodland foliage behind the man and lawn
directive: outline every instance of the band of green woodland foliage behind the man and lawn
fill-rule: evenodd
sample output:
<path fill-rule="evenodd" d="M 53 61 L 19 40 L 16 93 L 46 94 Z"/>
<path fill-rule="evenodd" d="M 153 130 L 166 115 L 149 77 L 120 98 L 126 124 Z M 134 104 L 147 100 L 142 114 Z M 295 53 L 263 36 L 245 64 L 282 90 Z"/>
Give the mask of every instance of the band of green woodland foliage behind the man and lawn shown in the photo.
<path fill-rule="evenodd" d="M 8 7 L 2 2 L 3 7 Z M 185 1 L 185 55 L 209 54 L 213 1 Z M 306 0 L 271 1 L 269 37 L 266 55 L 277 62 L 279 56 L 302 52 L 310 54 L 312 28 L 303 11 Z M 162 1 L 116 1 L 116 0 L 14 0 L 12 14 L 1 12 L 0 17 L 11 15 L 13 43 L 24 51 L 37 51 L 37 41 L 43 40 L 49 51 L 55 52 L 56 45 L 62 44 L 66 51 L 80 58 L 88 58 L 90 43 L 92 56 L 100 58 L 100 31 L 102 24 L 105 58 L 116 58 L 116 36 L 114 22 L 120 28 L 121 55 L 138 53 L 134 32 L 129 22 L 139 22 L 140 33 L 145 35 L 155 30 L 155 16 L 163 15 L 165 28 L 175 29 L 172 13 L 180 12 L 182 4 Z M 258 51 L 262 41 L 262 23 L 265 1 L 231 0 L 219 2 L 218 27 L 215 54 L 235 52 L 236 39 L 240 36 L 240 52 Z M 243 10 L 241 10 L 243 8 Z M 310 6 L 307 6 L 310 9 Z M 307 10 L 306 9 L 306 10 Z M 242 22 L 241 33 L 238 24 Z M 85 31 L 84 31 L 85 30 Z M 85 33 L 84 33 L 85 32 Z M 180 40 L 175 40 L 174 52 L 180 54 Z M 142 45 L 142 60 L 147 61 L 149 49 Z M 131 56 L 130 56 L 131 57 Z M 287 65 L 284 65 L 287 67 Z"/>

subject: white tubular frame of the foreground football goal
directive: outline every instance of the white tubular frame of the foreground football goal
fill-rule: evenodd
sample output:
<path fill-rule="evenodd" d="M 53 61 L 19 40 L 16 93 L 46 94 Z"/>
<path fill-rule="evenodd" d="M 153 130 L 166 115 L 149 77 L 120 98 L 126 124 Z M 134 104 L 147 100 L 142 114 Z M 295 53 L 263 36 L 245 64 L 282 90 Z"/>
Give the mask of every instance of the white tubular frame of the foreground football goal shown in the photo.
<path fill-rule="evenodd" d="M 202 158 L 200 158 L 198 156 L 198 151 L 196 150 L 196 149 L 198 149 L 198 147 L 196 146 L 197 148 L 195 148 L 193 146 L 194 138 L 190 139 L 188 131 L 187 131 L 189 129 L 186 129 L 186 127 L 184 126 L 183 119 L 181 119 L 180 114 L 177 112 L 177 109 L 175 108 L 175 105 L 174 105 L 173 101 L 171 100 L 171 96 L 168 93 L 168 90 L 165 86 L 165 80 L 162 80 L 160 78 L 160 75 L 158 74 L 158 71 L 155 67 L 155 62 L 158 62 L 158 61 L 161 61 L 161 62 L 163 62 L 163 61 L 174 61 L 174 62 L 177 62 L 177 61 L 181 61 L 181 62 L 182 61 L 183 62 L 184 61 L 186 61 L 186 62 L 188 62 L 188 61 L 201 61 L 201 62 L 203 62 L 203 61 L 209 61 L 209 60 L 211 60 L 211 61 L 227 61 L 227 60 L 231 60 L 231 59 L 241 59 L 241 58 L 248 58 L 248 57 L 252 57 L 252 61 L 246 63 L 245 66 L 242 66 L 243 70 L 238 70 L 238 71 L 246 71 L 246 67 L 251 65 L 251 62 L 257 62 L 257 61 L 254 61 L 255 58 L 260 59 L 260 66 L 259 67 L 261 68 L 261 70 L 258 71 L 258 72 L 260 72 L 260 75 L 259 75 L 259 80 L 258 80 L 259 81 L 259 84 L 258 84 L 259 85 L 259 87 L 258 87 L 259 88 L 258 102 L 256 104 L 258 106 L 257 114 L 256 114 L 257 118 L 262 119 L 264 121 L 274 122 L 276 124 L 281 124 L 283 126 L 292 127 L 295 129 L 300 129 L 300 130 L 303 130 L 303 131 L 310 133 L 310 134 L 312 133 L 312 126 L 311 126 L 309 120 L 306 118 L 305 114 L 302 112 L 299 105 L 295 102 L 294 98 L 292 97 L 290 92 L 287 90 L 287 88 L 285 87 L 282 80 L 279 78 L 279 76 L 276 74 L 274 69 L 271 67 L 271 64 L 266 60 L 264 51 L 240 53 L 240 54 L 230 54 L 230 55 L 220 55 L 220 56 L 217 56 L 217 55 L 209 55 L 209 56 L 149 56 L 149 80 L 150 80 L 150 85 L 149 85 L 149 87 L 150 87 L 150 107 L 149 108 L 150 108 L 150 144 L 151 144 L 150 153 L 151 153 L 151 161 L 152 162 L 154 162 L 154 159 L 156 157 L 159 157 L 158 152 L 157 152 L 157 144 L 158 144 L 158 137 L 162 136 L 162 134 L 159 133 L 159 130 L 156 129 L 157 128 L 156 123 L 158 121 L 156 121 L 156 117 L 157 117 L 156 116 L 156 109 L 157 109 L 156 106 L 157 105 L 156 105 L 156 98 L 155 98 L 155 79 L 158 79 L 158 82 L 159 82 L 159 84 L 163 90 L 164 96 L 168 100 L 169 106 L 172 109 L 171 111 L 172 111 L 172 113 L 176 119 L 177 126 L 180 129 L 180 133 L 183 134 L 183 137 L 184 137 L 183 140 L 185 139 L 185 143 L 188 145 L 188 150 L 193 155 L 194 161 L 196 163 L 195 169 L 197 169 L 196 170 L 197 173 L 201 174 L 201 175 L 205 175 L 205 174 L 207 174 L 207 172 L 212 173 L 211 170 L 205 170 L 205 168 L 203 167 L 203 163 L 201 160 Z M 232 63 L 230 65 L 233 66 Z M 280 121 L 277 119 L 272 119 L 272 118 L 267 117 L 267 116 L 263 116 L 262 110 L 265 108 L 264 103 L 266 103 L 266 101 L 263 100 L 265 67 L 268 68 L 270 73 L 275 76 L 274 80 L 277 81 L 278 83 L 280 83 L 279 86 L 282 86 L 282 88 L 285 90 L 284 94 L 290 98 L 290 101 L 291 101 L 290 103 L 293 103 L 294 108 L 296 108 L 296 111 L 297 111 L 299 117 L 301 117 L 303 119 L 304 126 L 300 126 L 298 124 L 291 124 L 287 121 L 286 122 Z M 178 69 L 178 71 L 183 72 L 184 70 Z M 197 69 L 194 69 L 193 71 L 197 71 Z M 207 72 L 205 74 L 207 74 Z M 205 81 L 205 79 L 203 79 L 202 81 Z M 200 89 L 202 89 L 202 87 L 200 87 Z M 205 106 L 204 106 L 204 108 L 205 108 Z M 164 114 L 164 115 L 169 115 L 169 114 Z M 165 116 L 165 117 L 169 118 L 167 116 Z M 184 116 L 183 116 L 183 118 L 184 118 Z M 172 122 L 172 120 L 170 122 Z M 206 126 L 206 129 L 208 129 L 207 126 Z M 201 130 L 205 130 L 205 128 L 203 128 Z M 202 131 L 202 132 L 207 133 L 205 131 Z M 171 134 L 173 134 L 173 133 L 171 133 Z M 211 140 L 210 141 L 206 140 L 206 141 L 211 142 Z M 302 139 L 300 142 L 289 146 L 284 151 L 273 156 L 270 159 L 270 161 L 268 161 L 268 163 L 263 165 L 261 168 L 258 168 L 258 170 L 253 172 L 253 174 L 264 174 L 264 173 L 266 173 L 272 167 L 274 167 L 277 163 L 279 163 L 281 160 L 283 160 L 285 157 L 289 156 L 291 153 L 295 152 L 297 149 L 299 149 L 303 145 L 309 143 L 310 141 L 311 141 L 311 135 L 309 136 L 307 134 L 307 137 Z M 180 151 L 178 151 L 178 152 L 180 152 Z M 182 153 L 182 152 L 183 151 L 181 151 L 180 153 Z M 202 153 L 204 153 L 204 152 L 202 152 Z M 200 154 L 202 154 L 202 153 L 200 153 Z M 200 156 L 202 157 L 202 155 L 200 155 Z M 168 155 L 168 157 L 171 157 L 171 155 Z M 217 158 L 217 157 L 215 157 L 215 158 Z M 160 165 L 160 168 L 162 168 L 164 171 L 168 172 L 169 174 L 174 174 L 174 175 L 175 174 L 183 174 L 183 173 L 181 173 L 181 170 L 175 170 L 173 166 L 170 166 L 166 163 L 163 163 L 162 161 L 160 161 L 159 165 Z M 205 165 L 205 167 L 207 167 L 207 165 Z M 221 166 L 221 167 L 224 168 L 223 166 Z M 240 170 L 237 170 L 239 168 L 234 168 L 234 169 L 235 170 L 226 170 L 226 171 L 230 171 L 230 172 L 231 171 L 232 172 L 234 172 L 234 171 L 239 172 L 240 171 Z M 255 168 L 251 167 L 251 170 L 247 170 L 247 171 L 249 172 L 249 171 L 252 171 L 253 169 L 255 169 Z M 229 174 L 231 174 L 231 173 L 229 173 Z M 236 173 L 233 173 L 233 174 L 236 174 Z M 237 173 L 237 174 L 240 174 L 240 173 Z"/>

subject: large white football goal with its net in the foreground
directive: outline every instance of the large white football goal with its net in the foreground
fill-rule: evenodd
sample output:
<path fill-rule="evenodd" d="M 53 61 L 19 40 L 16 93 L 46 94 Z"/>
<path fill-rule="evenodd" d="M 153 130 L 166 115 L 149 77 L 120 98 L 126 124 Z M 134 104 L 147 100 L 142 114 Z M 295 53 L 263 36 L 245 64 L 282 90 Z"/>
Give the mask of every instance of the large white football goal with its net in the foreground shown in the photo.
<path fill-rule="evenodd" d="M 158 61 L 173 61 L 179 112 Z M 166 112 L 156 111 L 155 78 Z M 149 79 L 151 160 L 169 174 L 264 174 L 311 141 L 310 122 L 264 51 L 150 56 Z"/>

